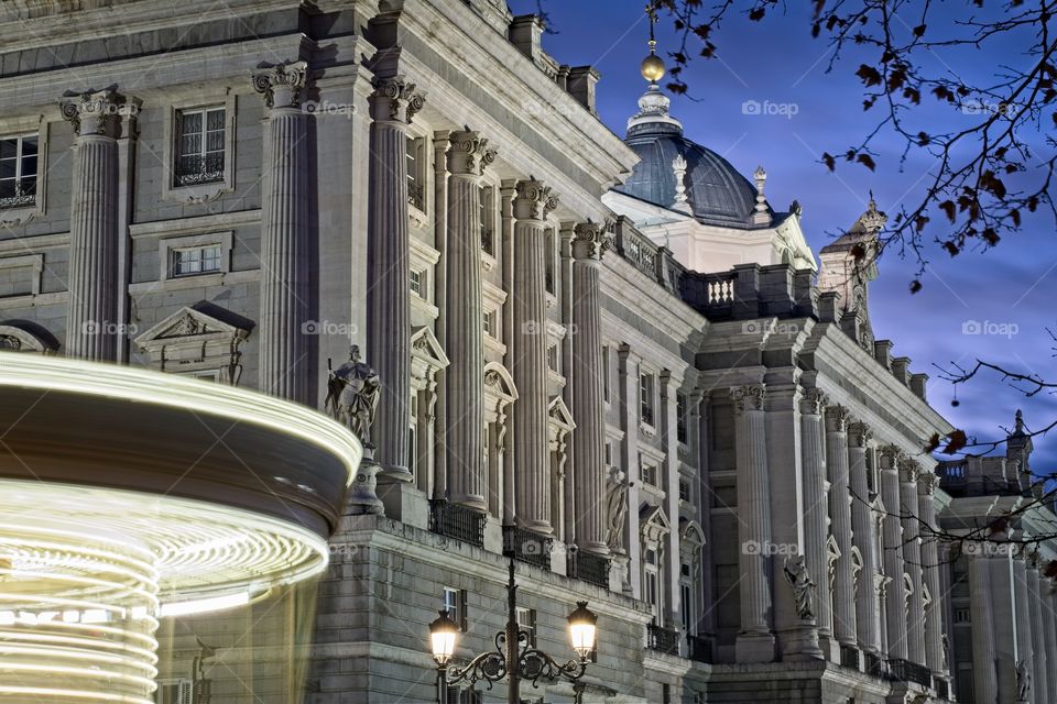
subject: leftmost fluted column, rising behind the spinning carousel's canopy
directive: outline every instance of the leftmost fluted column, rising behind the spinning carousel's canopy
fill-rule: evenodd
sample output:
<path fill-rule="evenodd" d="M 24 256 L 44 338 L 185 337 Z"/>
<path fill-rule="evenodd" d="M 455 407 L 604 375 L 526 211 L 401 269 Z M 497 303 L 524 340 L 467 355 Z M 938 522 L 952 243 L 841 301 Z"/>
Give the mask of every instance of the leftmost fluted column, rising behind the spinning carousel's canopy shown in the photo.
<path fill-rule="evenodd" d="M 62 103 L 74 140 L 69 212 L 69 305 L 66 354 L 115 361 L 123 326 L 118 319 L 118 142 L 124 98 L 86 92 Z M 43 167 L 43 165 L 42 165 Z"/>

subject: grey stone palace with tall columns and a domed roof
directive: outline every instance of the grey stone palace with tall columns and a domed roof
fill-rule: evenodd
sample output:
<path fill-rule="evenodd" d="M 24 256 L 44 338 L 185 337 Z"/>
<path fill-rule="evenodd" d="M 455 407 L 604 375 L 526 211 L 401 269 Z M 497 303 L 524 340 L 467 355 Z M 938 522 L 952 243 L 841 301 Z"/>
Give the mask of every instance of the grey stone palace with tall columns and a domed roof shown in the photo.
<path fill-rule="evenodd" d="M 505 620 L 503 527 L 540 647 L 599 614 L 585 701 L 951 698 L 961 578 L 918 537 L 962 501 L 922 452 L 951 428 L 871 328 L 872 202 L 817 262 L 762 168 L 687 140 L 656 82 L 614 135 L 598 74 L 501 0 L 0 13 L 0 346 L 324 410 L 355 343 L 382 383 L 380 507 L 350 507 L 316 616 L 166 622 L 159 702 L 200 676 L 225 703 L 434 701 L 437 609 L 464 658 Z"/>

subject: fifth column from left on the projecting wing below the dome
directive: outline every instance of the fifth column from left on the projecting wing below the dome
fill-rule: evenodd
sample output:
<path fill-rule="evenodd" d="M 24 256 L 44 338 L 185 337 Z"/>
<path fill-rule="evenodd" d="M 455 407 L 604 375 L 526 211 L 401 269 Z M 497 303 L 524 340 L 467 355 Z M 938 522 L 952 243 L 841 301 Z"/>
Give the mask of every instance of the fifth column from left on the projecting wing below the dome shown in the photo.
<path fill-rule="evenodd" d="M 900 470 L 902 452 L 895 446 L 881 448 L 881 503 L 884 505 L 882 540 L 885 588 L 884 614 L 889 658 L 906 660 L 906 590 L 903 585 L 903 525 L 900 521 Z"/>

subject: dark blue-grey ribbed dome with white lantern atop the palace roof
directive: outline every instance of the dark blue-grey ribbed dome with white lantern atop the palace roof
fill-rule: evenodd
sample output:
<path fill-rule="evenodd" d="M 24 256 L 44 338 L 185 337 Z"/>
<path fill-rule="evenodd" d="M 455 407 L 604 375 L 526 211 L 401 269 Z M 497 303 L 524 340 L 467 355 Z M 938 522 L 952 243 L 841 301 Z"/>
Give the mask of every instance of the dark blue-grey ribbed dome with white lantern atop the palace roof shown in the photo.
<path fill-rule="evenodd" d="M 753 227 L 756 188 L 730 162 L 683 136 L 683 125 L 668 114 L 669 100 L 656 85 L 639 99 L 639 113 L 628 121 L 624 142 L 642 160 L 614 190 L 664 208 L 676 204 L 672 162 L 686 160 L 686 200 L 702 222 Z"/>

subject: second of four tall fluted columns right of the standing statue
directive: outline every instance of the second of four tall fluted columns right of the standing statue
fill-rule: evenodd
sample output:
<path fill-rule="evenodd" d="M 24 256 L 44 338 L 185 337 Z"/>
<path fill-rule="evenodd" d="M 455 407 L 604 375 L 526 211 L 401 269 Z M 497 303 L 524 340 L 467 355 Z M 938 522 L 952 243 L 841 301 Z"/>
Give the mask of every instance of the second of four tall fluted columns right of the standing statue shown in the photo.
<path fill-rule="evenodd" d="M 448 141 L 445 280 L 450 292 L 458 292 L 447 307 L 445 324 L 445 352 L 450 360 L 444 394 L 448 487 L 453 502 L 486 512 L 480 178 L 494 161 L 495 151 L 477 132 L 453 132 Z"/>

